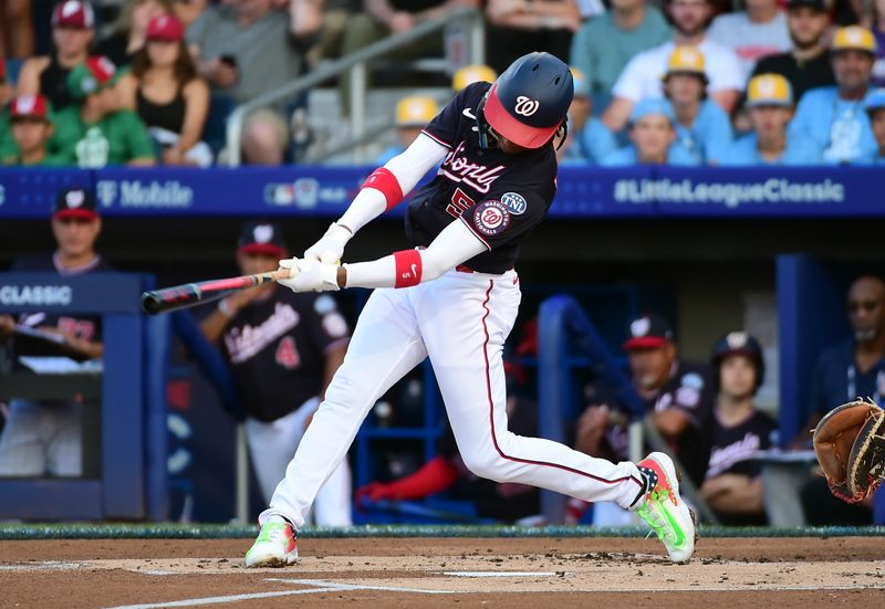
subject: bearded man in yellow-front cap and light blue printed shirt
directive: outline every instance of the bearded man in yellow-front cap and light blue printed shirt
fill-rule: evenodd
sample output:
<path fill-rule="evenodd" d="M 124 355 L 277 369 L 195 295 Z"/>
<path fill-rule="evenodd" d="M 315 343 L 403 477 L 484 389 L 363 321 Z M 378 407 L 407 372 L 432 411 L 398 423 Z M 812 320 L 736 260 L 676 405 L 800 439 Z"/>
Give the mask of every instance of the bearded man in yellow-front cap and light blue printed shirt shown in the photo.
<path fill-rule="evenodd" d="M 789 137 L 805 135 L 827 164 L 854 162 L 878 149 L 863 106 L 875 50 L 870 30 L 837 30 L 830 50 L 836 85 L 809 91 L 790 123 Z"/>

